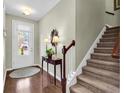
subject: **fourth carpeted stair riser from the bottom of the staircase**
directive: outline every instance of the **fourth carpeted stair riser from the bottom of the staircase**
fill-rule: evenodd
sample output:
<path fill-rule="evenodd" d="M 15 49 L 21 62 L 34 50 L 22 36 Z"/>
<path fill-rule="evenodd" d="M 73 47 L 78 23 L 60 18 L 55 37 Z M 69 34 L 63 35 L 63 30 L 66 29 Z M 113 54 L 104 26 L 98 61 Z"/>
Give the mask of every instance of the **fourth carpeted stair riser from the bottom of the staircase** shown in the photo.
<path fill-rule="evenodd" d="M 119 73 L 119 67 L 118 66 L 110 66 L 110 65 L 103 65 L 103 64 L 96 64 L 92 62 L 88 62 L 88 66 L 99 68 L 99 69 L 104 69 L 104 70 L 109 70 L 113 72 Z"/>

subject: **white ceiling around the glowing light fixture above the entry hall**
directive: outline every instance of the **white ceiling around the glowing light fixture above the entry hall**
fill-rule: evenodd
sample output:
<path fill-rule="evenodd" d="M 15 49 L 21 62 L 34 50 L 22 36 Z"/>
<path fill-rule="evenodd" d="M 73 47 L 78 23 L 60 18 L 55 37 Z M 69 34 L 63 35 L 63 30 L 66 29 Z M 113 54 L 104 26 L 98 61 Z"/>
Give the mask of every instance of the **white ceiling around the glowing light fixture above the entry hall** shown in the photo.
<path fill-rule="evenodd" d="M 60 0 L 4 0 L 4 3 L 6 13 L 38 21 L 59 1 Z M 26 16 L 22 13 L 21 8 L 25 6 L 32 9 L 31 15 Z"/>

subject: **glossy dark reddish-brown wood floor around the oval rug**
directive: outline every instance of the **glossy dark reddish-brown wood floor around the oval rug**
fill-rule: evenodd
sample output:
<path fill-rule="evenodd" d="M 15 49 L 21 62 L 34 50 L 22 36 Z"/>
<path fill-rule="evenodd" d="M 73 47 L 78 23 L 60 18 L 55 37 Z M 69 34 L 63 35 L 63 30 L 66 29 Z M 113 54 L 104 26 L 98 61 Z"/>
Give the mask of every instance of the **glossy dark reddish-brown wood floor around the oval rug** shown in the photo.
<path fill-rule="evenodd" d="M 10 73 L 7 72 L 4 93 L 61 93 L 60 82 L 55 86 L 53 77 L 45 71 L 22 79 L 12 79 Z"/>

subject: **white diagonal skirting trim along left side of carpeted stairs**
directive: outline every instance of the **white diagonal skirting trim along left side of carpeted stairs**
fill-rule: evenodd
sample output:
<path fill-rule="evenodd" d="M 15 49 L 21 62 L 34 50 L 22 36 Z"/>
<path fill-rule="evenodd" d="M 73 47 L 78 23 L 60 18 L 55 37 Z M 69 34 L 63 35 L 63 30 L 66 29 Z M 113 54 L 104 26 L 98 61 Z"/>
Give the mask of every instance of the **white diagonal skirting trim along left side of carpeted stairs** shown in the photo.
<path fill-rule="evenodd" d="M 85 57 L 83 58 L 82 62 L 78 66 L 77 70 L 75 71 L 75 74 L 73 75 L 72 79 L 67 83 L 67 89 L 69 89 L 70 86 L 72 86 L 76 83 L 76 81 L 77 81 L 76 77 L 82 73 L 82 67 L 87 65 L 87 59 L 90 59 L 91 53 L 93 53 L 94 48 L 97 47 L 97 43 L 99 42 L 99 39 L 102 37 L 102 35 L 106 31 L 106 26 L 109 26 L 109 25 L 105 25 L 103 27 L 102 31 L 97 36 L 96 40 L 93 42 L 92 46 L 90 47 L 90 49 L 86 53 Z M 111 27 L 111 26 L 109 26 L 109 27 Z"/>

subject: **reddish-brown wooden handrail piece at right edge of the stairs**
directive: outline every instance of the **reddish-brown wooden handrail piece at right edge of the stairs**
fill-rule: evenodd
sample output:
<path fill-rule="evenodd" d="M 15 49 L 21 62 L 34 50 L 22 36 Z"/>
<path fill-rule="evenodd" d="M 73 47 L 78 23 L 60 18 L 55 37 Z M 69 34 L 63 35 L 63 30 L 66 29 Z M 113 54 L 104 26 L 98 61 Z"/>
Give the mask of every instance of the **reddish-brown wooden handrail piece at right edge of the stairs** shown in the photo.
<path fill-rule="evenodd" d="M 113 48 L 112 57 L 120 58 L 120 34 L 118 34 L 118 38 L 115 41 L 115 46 Z"/>

